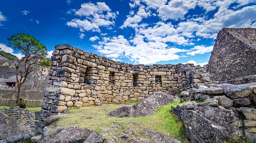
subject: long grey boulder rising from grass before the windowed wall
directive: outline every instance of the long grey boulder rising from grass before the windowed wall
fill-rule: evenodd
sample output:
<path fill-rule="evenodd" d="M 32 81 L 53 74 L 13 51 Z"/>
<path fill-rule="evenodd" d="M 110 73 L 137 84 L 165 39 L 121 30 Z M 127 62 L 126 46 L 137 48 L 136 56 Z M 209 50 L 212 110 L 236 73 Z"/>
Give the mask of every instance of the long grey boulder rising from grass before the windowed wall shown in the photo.
<path fill-rule="evenodd" d="M 164 105 L 170 104 L 176 99 L 175 96 L 169 95 L 164 92 L 157 92 L 149 97 L 143 99 L 139 103 L 133 106 L 127 107 L 123 106 L 115 111 L 110 112 L 109 116 L 118 117 L 139 117 L 139 116 L 149 116 L 156 112 L 157 108 Z"/>

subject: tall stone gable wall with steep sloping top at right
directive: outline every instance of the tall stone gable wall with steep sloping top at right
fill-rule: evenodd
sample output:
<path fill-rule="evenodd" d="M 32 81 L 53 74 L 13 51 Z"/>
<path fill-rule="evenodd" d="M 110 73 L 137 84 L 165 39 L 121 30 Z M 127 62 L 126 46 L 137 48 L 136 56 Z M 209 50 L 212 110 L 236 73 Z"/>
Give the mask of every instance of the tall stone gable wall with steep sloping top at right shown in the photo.
<path fill-rule="evenodd" d="M 214 81 L 256 74 L 256 28 L 223 28 L 215 40 L 207 71 Z"/>

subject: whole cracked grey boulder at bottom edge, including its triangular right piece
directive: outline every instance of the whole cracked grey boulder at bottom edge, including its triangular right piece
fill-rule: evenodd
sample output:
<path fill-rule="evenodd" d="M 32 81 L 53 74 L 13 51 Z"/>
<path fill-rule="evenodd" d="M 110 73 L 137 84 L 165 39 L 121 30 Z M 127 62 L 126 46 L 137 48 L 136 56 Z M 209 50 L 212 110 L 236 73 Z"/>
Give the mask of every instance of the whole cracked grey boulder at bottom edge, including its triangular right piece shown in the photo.
<path fill-rule="evenodd" d="M 105 138 L 96 131 L 88 128 L 66 127 L 52 133 L 44 130 L 38 143 L 103 143 Z"/>

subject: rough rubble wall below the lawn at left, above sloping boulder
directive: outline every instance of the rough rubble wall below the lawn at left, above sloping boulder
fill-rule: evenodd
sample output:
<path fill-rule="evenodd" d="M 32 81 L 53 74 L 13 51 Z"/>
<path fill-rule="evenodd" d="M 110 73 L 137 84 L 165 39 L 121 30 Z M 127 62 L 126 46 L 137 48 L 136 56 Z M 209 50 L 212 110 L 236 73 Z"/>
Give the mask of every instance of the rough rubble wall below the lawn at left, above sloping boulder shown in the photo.
<path fill-rule="evenodd" d="M 29 124 L 31 126 L 34 126 L 34 124 L 35 124 L 34 111 L 23 109 L 18 106 L 10 107 L 10 108 L 3 108 L 0 110 L 3 111 L 6 115 L 11 116 L 14 119 L 20 121 L 21 124 L 23 124 L 23 125 Z"/>

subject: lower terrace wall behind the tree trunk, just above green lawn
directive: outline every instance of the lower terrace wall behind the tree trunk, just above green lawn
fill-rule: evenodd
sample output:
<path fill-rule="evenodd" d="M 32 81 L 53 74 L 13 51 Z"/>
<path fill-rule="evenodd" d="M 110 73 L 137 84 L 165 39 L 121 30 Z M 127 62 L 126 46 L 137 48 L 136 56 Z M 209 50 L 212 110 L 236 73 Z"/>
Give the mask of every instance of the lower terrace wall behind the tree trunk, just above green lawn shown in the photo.
<path fill-rule="evenodd" d="M 25 100 L 26 107 L 40 107 L 43 100 Z M 0 106 L 16 106 L 16 99 L 0 99 Z"/>

